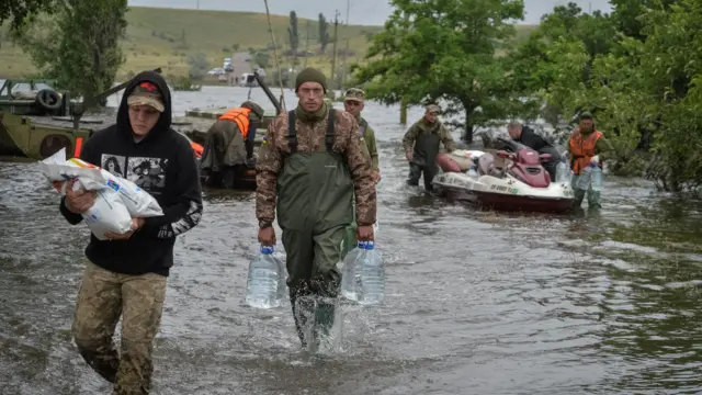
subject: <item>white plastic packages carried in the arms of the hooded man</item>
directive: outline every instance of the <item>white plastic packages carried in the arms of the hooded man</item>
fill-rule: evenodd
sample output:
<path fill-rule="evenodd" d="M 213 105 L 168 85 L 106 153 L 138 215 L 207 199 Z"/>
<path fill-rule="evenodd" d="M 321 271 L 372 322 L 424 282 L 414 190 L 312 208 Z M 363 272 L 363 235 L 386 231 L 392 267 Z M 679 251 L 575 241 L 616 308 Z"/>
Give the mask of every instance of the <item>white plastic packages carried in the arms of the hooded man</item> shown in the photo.
<path fill-rule="evenodd" d="M 97 191 L 95 203 L 82 217 L 99 240 L 107 239 L 105 233 L 132 230 L 133 217 L 163 215 L 158 202 L 146 191 L 80 159 L 66 161 L 65 149 L 39 162 L 39 168 L 61 195 L 67 188 Z"/>

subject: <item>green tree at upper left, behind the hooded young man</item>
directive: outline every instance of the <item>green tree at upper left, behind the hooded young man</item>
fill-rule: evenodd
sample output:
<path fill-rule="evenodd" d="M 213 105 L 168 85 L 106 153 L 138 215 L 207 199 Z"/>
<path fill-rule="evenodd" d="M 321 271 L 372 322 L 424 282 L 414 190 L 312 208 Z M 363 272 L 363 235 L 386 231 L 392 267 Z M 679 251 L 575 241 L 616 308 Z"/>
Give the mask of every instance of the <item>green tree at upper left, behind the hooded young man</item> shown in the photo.
<path fill-rule="evenodd" d="M 127 0 L 66 0 L 54 16 L 44 16 L 15 32 L 14 38 L 43 75 L 83 97 L 87 106 L 112 87 L 124 64 L 120 40 L 127 22 Z"/>

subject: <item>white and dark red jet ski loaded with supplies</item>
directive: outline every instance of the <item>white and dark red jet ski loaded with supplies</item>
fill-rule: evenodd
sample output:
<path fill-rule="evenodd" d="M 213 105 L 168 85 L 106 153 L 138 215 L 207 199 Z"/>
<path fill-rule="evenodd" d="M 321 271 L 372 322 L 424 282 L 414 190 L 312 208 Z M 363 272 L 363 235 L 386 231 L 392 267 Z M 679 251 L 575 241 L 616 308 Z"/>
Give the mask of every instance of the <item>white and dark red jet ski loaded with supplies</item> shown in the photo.
<path fill-rule="evenodd" d="M 454 150 L 439 154 L 441 168 L 432 183 L 434 190 L 449 198 L 478 206 L 547 213 L 571 210 L 574 194 L 568 174 L 558 174 L 556 182 L 541 165 L 551 155 L 541 154 L 513 140 L 498 138 L 505 149 L 496 155 L 505 167 L 495 166 L 492 154 L 476 150 Z"/>

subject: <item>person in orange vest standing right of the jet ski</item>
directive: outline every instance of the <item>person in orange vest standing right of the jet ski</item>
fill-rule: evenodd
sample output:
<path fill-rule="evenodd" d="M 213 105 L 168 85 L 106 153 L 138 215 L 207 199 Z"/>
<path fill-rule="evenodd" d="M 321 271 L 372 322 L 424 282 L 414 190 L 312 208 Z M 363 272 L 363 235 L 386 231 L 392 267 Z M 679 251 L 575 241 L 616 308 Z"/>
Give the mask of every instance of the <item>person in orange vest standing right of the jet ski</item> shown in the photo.
<path fill-rule="evenodd" d="M 575 206 L 582 204 L 586 191 L 576 188 L 582 170 L 590 163 L 596 163 L 602 168 L 607 155 L 613 150 L 612 145 L 604 138 L 604 134 L 595 127 L 592 114 L 582 113 L 578 119 L 578 127 L 570 136 L 568 144 L 568 156 L 570 157 L 570 169 L 573 170 L 573 192 L 575 194 Z M 592 190 L 592 184 L 587 190 L 588 207 L 602 207 L 600 203 L 600 191 Z"/>

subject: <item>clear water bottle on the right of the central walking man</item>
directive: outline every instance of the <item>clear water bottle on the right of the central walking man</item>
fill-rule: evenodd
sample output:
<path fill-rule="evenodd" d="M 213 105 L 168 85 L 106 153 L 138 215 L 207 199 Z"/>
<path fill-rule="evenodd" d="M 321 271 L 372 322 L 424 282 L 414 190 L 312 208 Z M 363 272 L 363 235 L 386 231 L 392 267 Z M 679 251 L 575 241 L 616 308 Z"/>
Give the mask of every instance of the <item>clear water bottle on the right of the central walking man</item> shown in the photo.
<path fill-rule="evenodd" d="M 356 297 L 360 304 L 378 304 L 385 297 L 385 264 L 374 241 L 367 241 L 364 247 L 355 259 L 355 270 L 361 278 Z"/>

